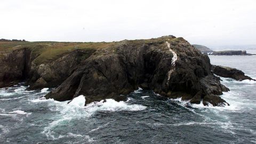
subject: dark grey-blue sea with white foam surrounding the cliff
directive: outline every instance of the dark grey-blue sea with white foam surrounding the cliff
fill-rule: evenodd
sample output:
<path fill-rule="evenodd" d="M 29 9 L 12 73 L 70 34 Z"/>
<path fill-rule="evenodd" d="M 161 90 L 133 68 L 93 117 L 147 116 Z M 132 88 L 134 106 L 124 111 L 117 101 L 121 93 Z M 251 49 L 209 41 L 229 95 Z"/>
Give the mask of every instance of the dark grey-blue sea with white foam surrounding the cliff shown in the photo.
<path fill-rule="evenodd" d="M 210 56 L 256 78 L 254 56 Z M 189 105 L 137 90 L 126 102 L 39 99 L 50 90 L 0 89 L 0 143 L 256 143 L 256 82 L 221 78 L 230 106 Z"/>

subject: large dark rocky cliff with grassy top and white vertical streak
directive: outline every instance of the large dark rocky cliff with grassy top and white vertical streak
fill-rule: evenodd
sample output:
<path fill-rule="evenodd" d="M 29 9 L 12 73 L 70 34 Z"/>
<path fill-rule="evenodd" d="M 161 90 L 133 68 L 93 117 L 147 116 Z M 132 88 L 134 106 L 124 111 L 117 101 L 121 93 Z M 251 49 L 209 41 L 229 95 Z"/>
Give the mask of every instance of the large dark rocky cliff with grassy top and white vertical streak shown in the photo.
<path fill-rule="evenodd" d="M 56 87 L 47 99 L 66 101 L 82 94 L 86 104 L 125 100 L 139 86 L 191 103 L 226 103 L 219 95 L 228 89 L 212 74 L 209 58 L 183 38 L 12 46 L 0 47 L 0 87 L 26 81 L 29 89 Z"/>

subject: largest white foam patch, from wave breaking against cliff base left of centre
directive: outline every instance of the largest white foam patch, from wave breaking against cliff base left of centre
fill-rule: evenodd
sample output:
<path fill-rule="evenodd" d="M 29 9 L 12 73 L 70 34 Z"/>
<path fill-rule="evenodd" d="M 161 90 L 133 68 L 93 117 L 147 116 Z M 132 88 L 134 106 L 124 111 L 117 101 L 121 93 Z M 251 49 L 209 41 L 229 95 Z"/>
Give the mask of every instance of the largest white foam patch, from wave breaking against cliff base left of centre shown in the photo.
<path fill-rule="evenodd" d="M 62 136 L 56 136 L 57 133 L 54 132 L 55 127 L 59 126 L 66 126 L 73 119 L 87 119 L 90 118 L 93 114 L 97 111 L 121 111 L 121 110 L 130 110 L 130 111 L 137 111 L 146 109 L 145 106 L 142 105 L 130 105 L 127 102 L 120 101 L 117 102 L 113 99 L 106 99 L 101 100 L 99 102 L 92 102 L 89 105 L 85 106 L 85 97 L 84 95 L 79 95 L 78 97 L 74 98 L 69 103 L 67 101 L 64 102 L 54 102 L 54 100 L 32 100 L 33 102 L 49 102 L 49 104 L 54 104 L 55 108 L 52 108 L 52 111 L 59 112 L 59 115 L 55 117 L 55 120 L 52 121 L 48 126 L 44 127 L 44 133 L 48 139 L 59 139 Z M 106 124 L 108 125 L 108 124 Z M 103 125 L 103 126 L 106 126 Z M 101 129 L 97 127 L 92 131 Z"/>

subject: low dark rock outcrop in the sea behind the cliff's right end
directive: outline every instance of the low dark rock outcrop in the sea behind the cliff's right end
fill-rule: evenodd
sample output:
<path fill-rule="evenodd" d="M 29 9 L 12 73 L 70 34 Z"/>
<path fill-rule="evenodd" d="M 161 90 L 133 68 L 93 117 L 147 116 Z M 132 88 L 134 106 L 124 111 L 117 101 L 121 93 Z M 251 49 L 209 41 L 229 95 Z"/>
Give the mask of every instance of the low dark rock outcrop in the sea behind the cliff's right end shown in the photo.
<path fill-rule="evenodd" d="M 215 75 L 233 78 L 237 81 L 243 81 L 245 79 L 256 81 L 255 79 L 252 79 L 251 77 L 244 75 L 244 72 L 242 70 L 238 70 L 235 68 L 212 65 L 212 71 Z"/>

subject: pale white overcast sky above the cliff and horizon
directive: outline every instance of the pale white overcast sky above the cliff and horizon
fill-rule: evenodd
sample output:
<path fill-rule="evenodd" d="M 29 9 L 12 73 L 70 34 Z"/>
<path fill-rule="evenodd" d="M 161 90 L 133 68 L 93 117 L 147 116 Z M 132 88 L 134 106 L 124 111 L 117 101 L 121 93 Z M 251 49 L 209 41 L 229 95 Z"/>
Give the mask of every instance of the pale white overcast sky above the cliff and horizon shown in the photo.
<path fill-rule="evenodd" d="M 111 42 L 165 35 L 206 46 L 256 44 L 255 0 L 1 0 L 0 38 Z"/>

